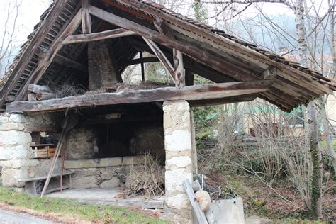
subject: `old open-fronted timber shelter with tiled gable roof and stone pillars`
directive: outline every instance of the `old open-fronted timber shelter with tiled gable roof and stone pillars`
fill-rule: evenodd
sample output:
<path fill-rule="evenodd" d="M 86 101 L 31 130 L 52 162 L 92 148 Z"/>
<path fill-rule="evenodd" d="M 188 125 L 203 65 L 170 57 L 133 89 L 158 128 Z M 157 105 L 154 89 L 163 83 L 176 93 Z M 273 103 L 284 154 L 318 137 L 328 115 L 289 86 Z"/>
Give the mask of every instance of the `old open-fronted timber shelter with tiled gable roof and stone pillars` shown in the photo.
<path fill-rule="evenodd" d="M 142 57 L 142 52 L 153 56 Z M 101 91 L 123 86 L 121 74 L 129 65 L 143 68 L 149 62 L 162 62 L 174 86 Z M 214 84 L 194 85 L 194 74 Z M 31 142 L 39 145 L 36 133 L 41 132 L 60 140 L 60 121 L 72 113 L 79 122 L 67 135 L 66 168 L 87 172 L 80 162 L 101 155 L 98 158 L 108 165 L 100 162 L 91 168 L 105 170 L 115 163 L 125 165 L 125 157 L 138 155 L 151 144 L 161 147 L 165 208 L 181 222 L 190 220 L 191 214 L 182 181 L 197 172 L 192 106 L 259 97 L 291 111 L 336 90 L 335 82 L 318 72 L 140 0 L 55 1 L 1 82 L 0 151 L 9 151 L 1 158 L 5 185 L 23 187 L 20 179 L 46 174 L 39 169 L 42 163 L 50 165 L 50 159 L 34 160 Z M 61 98 L 53 93 L 65 84 L 81 86 L 89 94 Z M 50 89 L 43 91 L 43 86 Z M 91 187 L 85 178 L 78 187 Z"/>

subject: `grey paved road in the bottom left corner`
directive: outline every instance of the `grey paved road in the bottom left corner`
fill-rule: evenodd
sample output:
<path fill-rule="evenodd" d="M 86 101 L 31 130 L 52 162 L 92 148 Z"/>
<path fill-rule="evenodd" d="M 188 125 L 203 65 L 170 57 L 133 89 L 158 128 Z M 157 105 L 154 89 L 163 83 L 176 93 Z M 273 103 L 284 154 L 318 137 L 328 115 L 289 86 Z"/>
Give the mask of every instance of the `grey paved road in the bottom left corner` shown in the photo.
<path fill-rule="evenodd" d="M 6 211 L 0 209 L 0 223 L 1 224 L 52 224 L 49 220 L 37 218 L 32 215 L 24 213 L 15 213 L 13 211 Z"/>

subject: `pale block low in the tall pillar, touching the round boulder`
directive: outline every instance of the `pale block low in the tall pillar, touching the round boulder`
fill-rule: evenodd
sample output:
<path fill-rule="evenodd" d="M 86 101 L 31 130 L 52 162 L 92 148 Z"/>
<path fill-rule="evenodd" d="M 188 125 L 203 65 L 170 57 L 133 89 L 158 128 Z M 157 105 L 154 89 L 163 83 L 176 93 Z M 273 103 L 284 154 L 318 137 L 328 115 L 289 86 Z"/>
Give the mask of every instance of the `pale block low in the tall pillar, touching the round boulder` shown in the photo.
<path fill-rule="evenodd" d="M 189 179 L 191 182 L 192 177 L 193 174 L 191 172 L 186 172 L 184 169 L 167 170 L 165 173 L 166 195 L 170 195 L 175 191 L 185 192 L 183 181 Z"/>

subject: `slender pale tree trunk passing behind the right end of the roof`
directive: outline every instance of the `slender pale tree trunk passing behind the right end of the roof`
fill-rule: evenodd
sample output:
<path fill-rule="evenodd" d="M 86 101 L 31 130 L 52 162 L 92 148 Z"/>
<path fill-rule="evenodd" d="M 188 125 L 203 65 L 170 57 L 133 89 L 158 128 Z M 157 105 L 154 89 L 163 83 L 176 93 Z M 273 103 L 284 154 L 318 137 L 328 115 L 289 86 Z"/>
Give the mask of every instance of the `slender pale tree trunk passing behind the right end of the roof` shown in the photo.
<path fill-rule="evenodd" d="M 308 67 L 306 27 L 304 23 L 303 0 L 296 0 L 295 17 L 296 32 L 298 35 L 298 55 L 301 65 Z M 318 118 L 314 101 L 310 101 L 307 107 L 308 113 L 308 139 L 310 157 L 313 163 L 313 176 L 310 183 L 310 211 L 315 218 L 322 219 L 322 156 L 318 145 Z"/>

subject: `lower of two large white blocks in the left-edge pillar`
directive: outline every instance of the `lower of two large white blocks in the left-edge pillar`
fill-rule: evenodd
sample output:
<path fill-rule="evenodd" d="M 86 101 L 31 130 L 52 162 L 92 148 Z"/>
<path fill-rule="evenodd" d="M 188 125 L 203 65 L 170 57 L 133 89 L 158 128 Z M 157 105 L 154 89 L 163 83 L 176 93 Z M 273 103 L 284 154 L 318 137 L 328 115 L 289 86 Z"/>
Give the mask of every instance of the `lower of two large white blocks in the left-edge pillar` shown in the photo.
<path fill-rule="evenodd" d="M 33 151 L 30 147 L 23 145 L 0 147 L 0 160 L 30 159 L 32 157 Z"/>

